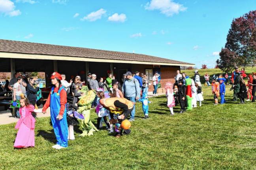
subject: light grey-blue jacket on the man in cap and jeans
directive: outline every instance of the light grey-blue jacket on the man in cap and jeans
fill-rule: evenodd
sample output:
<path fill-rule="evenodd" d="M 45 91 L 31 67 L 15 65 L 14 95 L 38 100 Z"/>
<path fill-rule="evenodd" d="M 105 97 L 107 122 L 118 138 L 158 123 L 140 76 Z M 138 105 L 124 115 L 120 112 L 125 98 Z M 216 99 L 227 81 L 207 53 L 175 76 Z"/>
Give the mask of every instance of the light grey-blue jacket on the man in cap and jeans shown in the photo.
<path fill-rule="evenodd" d="M 139 81 L 136 78 L 125 79 L 122 91 L 124 92 L 125 97 L 140 98 Z"/>

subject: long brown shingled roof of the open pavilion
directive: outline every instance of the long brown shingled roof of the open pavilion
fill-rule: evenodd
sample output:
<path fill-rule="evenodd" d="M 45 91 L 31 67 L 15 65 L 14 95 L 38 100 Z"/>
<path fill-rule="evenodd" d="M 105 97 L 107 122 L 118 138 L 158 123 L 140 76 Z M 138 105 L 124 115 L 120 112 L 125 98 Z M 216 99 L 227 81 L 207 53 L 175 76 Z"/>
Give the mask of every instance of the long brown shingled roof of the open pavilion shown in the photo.
<path fill-rule="evenodd" d="M 96 50 L 90 48 L 40 44 L 34 42 L 11 41 L 0 39 L 0 52 L 14 52 L 23 54 L 60 55 L 71 57 L 87 57 L 97 59 L 117 59 L 126 61 L 147 61 L 157 63 L 189 64 L 181 61 L 154 57 L 151 55 Z"/>

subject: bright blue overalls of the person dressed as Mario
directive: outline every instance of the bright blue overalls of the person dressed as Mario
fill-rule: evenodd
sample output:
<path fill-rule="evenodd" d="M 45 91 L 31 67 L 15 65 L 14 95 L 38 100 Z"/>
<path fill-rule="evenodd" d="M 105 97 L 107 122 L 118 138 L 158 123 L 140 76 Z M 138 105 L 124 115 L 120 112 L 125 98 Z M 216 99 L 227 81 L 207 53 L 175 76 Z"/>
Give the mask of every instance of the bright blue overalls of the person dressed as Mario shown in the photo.
<path fill-rule="evenodd" d="M 53 124 L 53 130 L 57 139 L 57 144 L 63 147 L 68 147 L 68 123 L 67 123 L 67 111 L 63 113 L 63 118 L 57 120 L 56 117 L 60 113 L 60 91 L 64 87 L 60 87 L 58 93 L 53 92 L 54 87 L 51 89 L 51 101 L 50 101 L 50 110 L 51 110 L 51 121 Z M 64 89 L 65 90 L 65 89 Z"/>

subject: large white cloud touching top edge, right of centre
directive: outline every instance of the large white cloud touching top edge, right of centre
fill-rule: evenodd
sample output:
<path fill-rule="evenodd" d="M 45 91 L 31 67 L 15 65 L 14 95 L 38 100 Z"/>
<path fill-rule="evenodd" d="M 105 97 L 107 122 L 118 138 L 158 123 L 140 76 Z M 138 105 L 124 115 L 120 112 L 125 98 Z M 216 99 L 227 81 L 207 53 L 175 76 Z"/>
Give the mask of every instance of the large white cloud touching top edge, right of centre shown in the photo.
<path fill-rule="evenodd" d="M 150 2 L 147 2 L 145 9 L 160 10 L 162 14 L 170 17 L 173 14 L 186 11 L 187 7 L 184 7 L 182 4 L 173 2 L 173 0 L 151 0 Z"/>

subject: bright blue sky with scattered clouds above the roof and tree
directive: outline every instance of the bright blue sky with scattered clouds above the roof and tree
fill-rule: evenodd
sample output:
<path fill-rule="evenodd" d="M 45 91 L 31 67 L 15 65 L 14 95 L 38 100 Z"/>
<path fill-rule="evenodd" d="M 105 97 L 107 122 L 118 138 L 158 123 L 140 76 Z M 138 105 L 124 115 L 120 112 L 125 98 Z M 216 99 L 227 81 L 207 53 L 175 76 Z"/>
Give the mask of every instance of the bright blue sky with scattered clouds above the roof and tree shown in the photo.
<path fill-rule="evenodd" d="M 0 0 L 0 39 L 135 52 L 212 68 L 255 0 Z"/>

